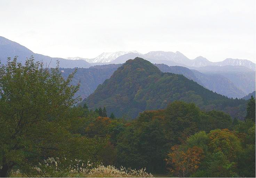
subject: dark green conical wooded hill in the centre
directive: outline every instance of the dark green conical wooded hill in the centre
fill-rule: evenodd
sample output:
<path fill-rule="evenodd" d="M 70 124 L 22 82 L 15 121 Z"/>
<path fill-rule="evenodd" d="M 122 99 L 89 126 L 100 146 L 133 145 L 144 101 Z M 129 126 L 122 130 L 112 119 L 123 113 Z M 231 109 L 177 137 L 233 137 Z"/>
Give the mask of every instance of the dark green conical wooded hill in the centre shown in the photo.
<path fill-rule="evenodd" d="M 205 110 L 223 110 L 238 118 L 245 116 L 247 103 L 214 93 L 183 75 L 163 73 L 139 57 L 126 61 L 83 102 L 91 109 L 106 107 L 118 117 L 126 114 L 135 118 L 144 110 L 165 108 L 174 100 L 193 102 Z"/>

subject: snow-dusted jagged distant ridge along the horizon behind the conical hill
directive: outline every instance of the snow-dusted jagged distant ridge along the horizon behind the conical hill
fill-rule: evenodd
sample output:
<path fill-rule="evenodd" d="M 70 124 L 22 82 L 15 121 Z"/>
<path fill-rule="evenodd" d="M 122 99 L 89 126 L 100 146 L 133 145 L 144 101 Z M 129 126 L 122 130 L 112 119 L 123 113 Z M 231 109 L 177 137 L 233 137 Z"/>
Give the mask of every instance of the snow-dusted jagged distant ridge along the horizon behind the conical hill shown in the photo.
<path fill-rule="evenodd" d="M 165 51 L 151 51 L 146 54 L 138 53 L 137 51 L 131 52 L 114 52 L 114 53 L 102 53 L 101 55 L 97 56 L 94 59 L 85 59 L 87 62 L 90 63 L 113 63 L 113 64 L 120 64 L 125 63 L 125 61 L 129 59 L 134 59 L 135 57 L 142 57 L 145 60 L 150 61 L 151 63 L 163 63 L 167 65 L 179 65 L 184 67 L 205 67 L 205 66 L 244 66 L 248 69 L 255 71 L 256 64 L 243 59 L 231 59 L 227 58 L 221 62 L 211 62 L 207 60 L 203 56 L 198 56 L 195 59 L 189 59 L 184 54 L 179 51 L 174 52 L 165 52 Z M 66 59 L 82 59 L 82 58 L 66 58 Z"/>

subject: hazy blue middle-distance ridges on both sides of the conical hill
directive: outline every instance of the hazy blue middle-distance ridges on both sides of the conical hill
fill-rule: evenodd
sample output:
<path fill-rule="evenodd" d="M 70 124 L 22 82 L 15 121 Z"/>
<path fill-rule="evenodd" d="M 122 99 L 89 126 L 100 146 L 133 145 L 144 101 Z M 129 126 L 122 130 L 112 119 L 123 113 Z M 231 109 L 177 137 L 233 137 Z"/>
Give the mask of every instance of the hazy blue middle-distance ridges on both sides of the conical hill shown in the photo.
<path fill-rule="evenodd" d="M 106 79 L 109 79 L 114 71 L 121 65 L 122 64 L 95 65 L 91 66 L 89 69 L 61 68 L 61 71 L 63 71 L 63 77 L 66 78 L 75 69 L 77 70 L 71 84 L 75 85 L 80 82 L 80 89 L 76 96 L 80 95 L 82 99 L 85 99 L 94 92 L 99 84 L 102 84 Z M 255 83 L 255 75 L 252 75 L 253 73 L 240 72 L 238 76 L 226 78 L 222 75 L 222 71 L 215 71 L 216 73 L 208 74 L 182 66 L 168 66 L 166 64 L 154 65 L 157 66 L 161 72 L 182 74 L 201 86 L 230 98 L 241 98 L 255 90 L 255 86 L 253 85 Z M 227 71 L 226 74 L 232 76 L 233 72 L 232 70 L 230 72 Z M 246 82 L 247 84 L 245 84 Z"/>

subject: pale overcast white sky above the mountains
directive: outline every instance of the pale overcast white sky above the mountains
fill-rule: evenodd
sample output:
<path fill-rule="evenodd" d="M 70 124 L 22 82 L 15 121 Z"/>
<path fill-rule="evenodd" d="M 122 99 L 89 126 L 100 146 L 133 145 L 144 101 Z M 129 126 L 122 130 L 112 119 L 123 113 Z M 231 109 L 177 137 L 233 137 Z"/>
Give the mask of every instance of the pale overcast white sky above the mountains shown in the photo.
<path fill-rule="evenodd" d="M 179 51 L 256 56 L 255 0 L 0 0 L 0 36 L 51 57 Z"/>

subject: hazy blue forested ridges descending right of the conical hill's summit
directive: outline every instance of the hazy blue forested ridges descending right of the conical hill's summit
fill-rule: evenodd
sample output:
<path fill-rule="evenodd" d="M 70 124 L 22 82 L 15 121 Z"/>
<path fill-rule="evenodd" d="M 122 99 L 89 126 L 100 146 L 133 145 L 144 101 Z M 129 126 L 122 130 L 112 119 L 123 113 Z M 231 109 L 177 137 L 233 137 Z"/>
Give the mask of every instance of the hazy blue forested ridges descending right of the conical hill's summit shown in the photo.
<path fill-rule="evenodd" d="M 243 66 L 215 66 L 215 70 L 210 72 L 199 72 L 182 66 L 154 65 L 162 72 L 182 74 L 203 87 L 230 98 L 242 98 L 246 93 L 255 90 L 255 73 L 247 72 Z"/>

